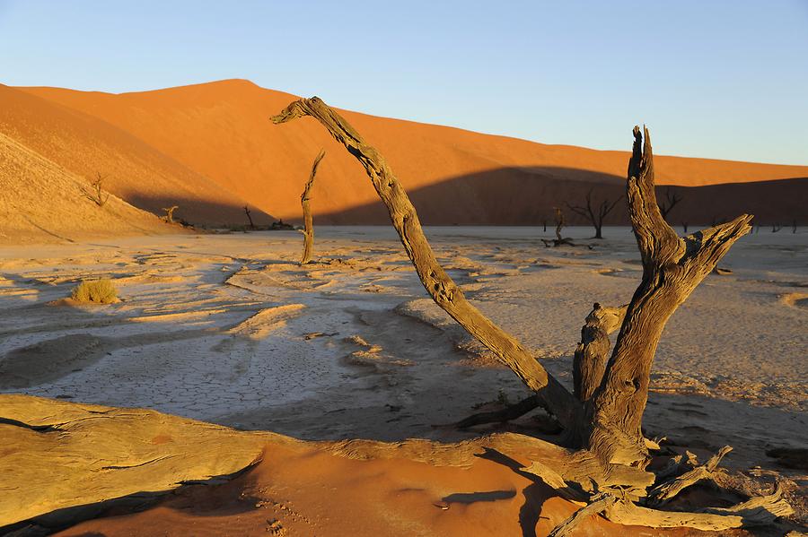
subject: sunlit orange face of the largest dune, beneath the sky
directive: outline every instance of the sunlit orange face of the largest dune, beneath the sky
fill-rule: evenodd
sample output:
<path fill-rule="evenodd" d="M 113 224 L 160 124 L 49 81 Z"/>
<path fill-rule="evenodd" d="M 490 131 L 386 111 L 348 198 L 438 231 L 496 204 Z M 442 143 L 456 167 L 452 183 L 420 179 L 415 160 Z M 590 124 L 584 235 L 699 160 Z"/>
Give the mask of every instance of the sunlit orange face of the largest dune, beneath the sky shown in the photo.
<path fill-rule="evenodd" d="M 233 196 L 250 200 L 265 212 L 287 220 L 300 217 L 300 193 L 314 156 L 321 147 L 323 160 L 314 186 L 315 214 L 342 213 L 342 223 L 368 223 L 347 217 L 349 210 L 372 203 L 375 193 L 364 170 L 338 147 L 312 119 L 274 126 L 268 117 L 277 114 L 294 95 L 260 88 L 252 82 L 228 80 L 158 91 L 110 94 L 57 88 L 23 88 L 30 95 L 116 126 L 196 172 L 188 180 L 210 178 Z M 324 96 L 328 100 L 328 96 Z M 512 206 L 487 207 L 480 213 L 490 219 L 479 223 L 537 223 L 527 218 L 502 220 L 502 214 L 527 214 L 537 204 L 525 195 L 524 169 L 541 169 L 542 177 L 558 185 L 549 188 L 544 201 L 563 204 L 567 181 L 619 184 L 625 175 L 628 152 L 602 152 L 566 145 L 545 145 L 504 136 L 473 133 L 345 112 L 347 119 L 389 160 L 410 191 L 444 184 L 440 197 L 429 204 L 435 211 L 452 211 L 455 196 L 472 189 L 480 204 L 487 204 L 492 185 L 452 178 L 490 178 L 504 191 L 498 196 Z M 626 129 L 627 146 L 630 126 Z M 664 148 L 659 148 L 664 151 Z M 808 167 L 755 164 L 728 160 L 656 157 L 660 185 L 706 186 L 763 180 L 808 177 Z M 437 191 L 437 190 L 436 190 Z M 205 196 L 198 191 L 200 196 Z M 729 193 L 734 195 L 734 192 Z M 786 215 L 786 218 L 796 215 Z M 453 219 L 458 220 L 458 219 Z M 374 216 L 373 223 L 386 217 Z M 428 221 L 428 219 L 427 219 Z M 468 223 L 458 221 L 458 223 Z"/>

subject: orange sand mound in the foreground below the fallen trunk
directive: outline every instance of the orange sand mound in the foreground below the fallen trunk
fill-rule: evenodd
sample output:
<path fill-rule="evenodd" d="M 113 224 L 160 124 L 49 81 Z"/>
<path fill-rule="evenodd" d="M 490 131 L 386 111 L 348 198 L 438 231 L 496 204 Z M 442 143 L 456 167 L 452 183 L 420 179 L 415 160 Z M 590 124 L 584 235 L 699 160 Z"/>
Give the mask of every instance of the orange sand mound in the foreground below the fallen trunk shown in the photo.
<path fill-rule="evenodd" d="M 363 443 L 349 441 L 348 449 L 352 442 Z M 424 451 L 413 453 L 413 446 Z M 270 443 L 259 464 L 229 483 L 180 489 L 145 511 L 112 512 L 57 535 L 124 537 L 141 534 L 144 528 L 165 536 L 547 535 L 577 507 L 523 472 L 531 456 L 548 455 L 530 446 L 514 446 L 517 453 L 508 455 L 482 447 L 474 455 L 446 456 L 428 441 L 412 440 L 369 446 L 364 453 L 345 456 L 329 453 L 326 445 Z M 625 526 L 593 516 L 575 535 L 715 533 Z"/>

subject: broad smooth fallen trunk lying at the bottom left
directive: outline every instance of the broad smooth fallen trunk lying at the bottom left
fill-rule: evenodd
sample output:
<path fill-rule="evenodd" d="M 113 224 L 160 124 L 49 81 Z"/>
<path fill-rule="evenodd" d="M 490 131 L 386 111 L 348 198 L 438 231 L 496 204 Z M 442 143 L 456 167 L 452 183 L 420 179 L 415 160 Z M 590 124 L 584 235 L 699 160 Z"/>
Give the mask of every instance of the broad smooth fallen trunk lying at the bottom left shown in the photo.
<path fill-rule="evenodd" d="M 144 409 L 0 394 L 0 526 L 59 509 L 164 492 L 239 472 L 269 432 L 239 431 Z"/>

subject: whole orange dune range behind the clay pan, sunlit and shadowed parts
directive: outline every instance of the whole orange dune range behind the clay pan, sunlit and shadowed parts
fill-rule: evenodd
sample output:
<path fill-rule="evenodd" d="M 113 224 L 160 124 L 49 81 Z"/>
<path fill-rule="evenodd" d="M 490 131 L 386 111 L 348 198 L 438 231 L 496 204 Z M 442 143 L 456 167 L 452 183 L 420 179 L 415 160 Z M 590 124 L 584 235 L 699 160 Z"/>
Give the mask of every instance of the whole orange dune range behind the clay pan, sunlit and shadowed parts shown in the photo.
<path fill-rule="evenodd" d="M 299 221 L 303 183 L 323 147 L 315 222 L 386 223 L 364 170 L 321 126 L 269 122 L 294 99 L 242 80 L 123 94 L 0 86 L 0 132 L 83 178 L 109 174 L 110 191 L 130 204 L 152 212 L 179 204 L 180 218 L 200 224 L 243 224 L 244 204 L 263 211 L 262 222 Z M 539 224 L 590 188 L 596 201 L 623 190 L 628 152 L 345 116 L 384 154 L 427 224 Z M 631 126 L 619 127 L 628 148 Z M 740 212 L 764 223 L 808 221 L 808 167 L 680 157 L 656 165 L 657 183 L 684 196 L 672 221 Z M 625 223 L 625 214 L 615 210 L 609 223 Z"/>

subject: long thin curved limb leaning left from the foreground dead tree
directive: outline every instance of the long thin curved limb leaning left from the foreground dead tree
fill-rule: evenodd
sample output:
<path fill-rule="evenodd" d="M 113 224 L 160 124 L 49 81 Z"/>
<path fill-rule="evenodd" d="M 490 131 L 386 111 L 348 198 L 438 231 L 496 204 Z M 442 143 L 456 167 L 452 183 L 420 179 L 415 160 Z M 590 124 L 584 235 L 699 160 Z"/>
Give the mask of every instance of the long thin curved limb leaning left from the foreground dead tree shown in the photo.
<path fill-rule="evenodd" d="M 272 117 L 272 121 L 280 124 L 303 116 L 317 119 L 362 164 L 390 213 L 392 225 L 415 266 L 418 278 L 435 303 L 539 394 L 562 424 L 572 427 L 580 403 L 557 379 L 548 375 L 539 361 L 513 335 L 494 324 L 466 300 L 461 289 L 435 259 L 415 207 L 382 155 L 365 143 L 362 136 L 336 110 L 317 97 L 294 101 Z"/>

